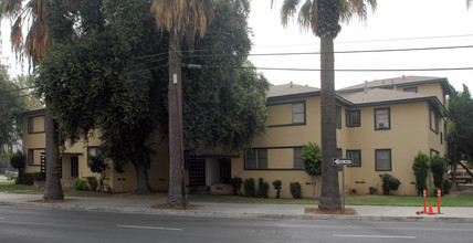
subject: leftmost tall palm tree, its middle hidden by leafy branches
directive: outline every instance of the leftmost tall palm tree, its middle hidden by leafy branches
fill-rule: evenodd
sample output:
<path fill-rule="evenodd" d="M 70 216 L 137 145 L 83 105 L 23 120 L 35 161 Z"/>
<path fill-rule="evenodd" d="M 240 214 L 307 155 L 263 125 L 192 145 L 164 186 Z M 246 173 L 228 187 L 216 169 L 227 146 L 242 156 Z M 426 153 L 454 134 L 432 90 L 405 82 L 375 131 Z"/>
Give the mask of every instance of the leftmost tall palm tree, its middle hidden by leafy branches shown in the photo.
<path fill-rule="evenodd" d="M 48 53 L 50 39 L 46 28 L 46 0 L 22 0 L 0 1 L 0 18 L 9 18 L 14 22 L 10 41 L 12 49 L 19 60 L 25 56 L 30 64 L 35 65 L 38 61 Z M 28 35 L 23 42 L 23 23 L 28 27 Z M 48 106 L 48 101 L 46 101 Z M 46 135 L 46 187 L 43 198 L 45 200 L 62 200 L 64 198 L 61 187 L 60 161 L 59 161 L 59 134 L 57 123 L 50 116 L 46 109 L 44 120 Z"/>

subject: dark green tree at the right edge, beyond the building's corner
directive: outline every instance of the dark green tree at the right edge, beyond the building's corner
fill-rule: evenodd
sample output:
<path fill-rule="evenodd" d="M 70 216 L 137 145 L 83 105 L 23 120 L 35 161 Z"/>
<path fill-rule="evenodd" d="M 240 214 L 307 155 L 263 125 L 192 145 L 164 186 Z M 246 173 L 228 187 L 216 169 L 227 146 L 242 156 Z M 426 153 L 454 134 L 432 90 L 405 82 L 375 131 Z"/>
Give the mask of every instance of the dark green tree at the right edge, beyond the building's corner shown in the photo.
<path fill-rule="evenodd" d="M 473 99 L 469 88 L 454 92 L 449 96 L 448 109 L 451 120 L 448 123 L 448 161 L 452 168 L 453 187 L 456 190 L 456 166 L 462 160 L 473 158 Z"/>

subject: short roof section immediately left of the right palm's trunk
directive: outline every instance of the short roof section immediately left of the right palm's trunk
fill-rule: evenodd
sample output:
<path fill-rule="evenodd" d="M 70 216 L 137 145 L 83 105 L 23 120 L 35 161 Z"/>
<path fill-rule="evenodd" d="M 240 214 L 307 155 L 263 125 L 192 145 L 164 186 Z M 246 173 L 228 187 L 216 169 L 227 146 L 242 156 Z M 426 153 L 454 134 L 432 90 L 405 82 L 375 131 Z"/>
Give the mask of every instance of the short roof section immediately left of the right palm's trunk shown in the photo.
<path fill-rule="evenodd" d="M 301 98 L 319 95 L 320 88 L 311 87 L 307 85 L 288 84 L 271 85 L 266 94 L 269 102 L 282 101 L 288 98 Z"/>

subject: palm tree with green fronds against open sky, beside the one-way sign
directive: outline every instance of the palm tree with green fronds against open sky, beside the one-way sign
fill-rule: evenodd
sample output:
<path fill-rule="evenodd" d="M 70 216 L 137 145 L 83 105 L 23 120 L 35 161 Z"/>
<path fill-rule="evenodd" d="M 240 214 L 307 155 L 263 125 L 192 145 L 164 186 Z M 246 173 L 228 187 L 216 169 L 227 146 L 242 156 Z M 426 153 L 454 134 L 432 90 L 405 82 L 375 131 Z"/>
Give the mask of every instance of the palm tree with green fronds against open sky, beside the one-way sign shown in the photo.
<path fill-rule="evenodd" d="M 303 2 L 303 3 L 302 3 Z M 275 0 L 271 1 L 272 7 Z M 301 6 L 302 3 L 302 6 Z M 284 0 L 281 7 L 281 22 L 297 13 L 297 23 L 320 38 L 320 135 L 322 135 L 322 191 L 318 208 L 339 211 L 340 194 L 338 170 L 332 165 L 337 157 L 336 99 L 334 71 L 334 39 L 340 32 L 339 22 L 349 22 L 353 15 L 360 20 L 367 17 L 367 6 L 376 9 L 376 0 Z M 299 7 L 301 6 L 301 7 Z M 297 8 L 299 8 L 297 10 Z"/>

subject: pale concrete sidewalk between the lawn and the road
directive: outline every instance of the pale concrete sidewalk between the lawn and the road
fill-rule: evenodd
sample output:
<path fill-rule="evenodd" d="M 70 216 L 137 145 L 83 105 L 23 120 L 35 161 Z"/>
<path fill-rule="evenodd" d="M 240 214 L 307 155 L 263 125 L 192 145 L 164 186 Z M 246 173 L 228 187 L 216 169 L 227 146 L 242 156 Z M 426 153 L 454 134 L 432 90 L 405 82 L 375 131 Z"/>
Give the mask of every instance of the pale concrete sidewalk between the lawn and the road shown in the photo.
<path fill-rule="evenodd" d="M 297 219 L 297 220 L 351 220 L 351 221 L 403 221 L 403 222 L 455 222 L 473 223 L 473 208 L 471 207 L 443 207 L 442 214 L 416 214 L 423 210 L 421 207 L 374 207 L 374 205 L 347 205 L 354 208 L 358 215 L 335 214 L 304 214 L 305 208 L 316 205 L 298 204 L 265 204 L 265 203 L 210 203 L 193 202 L 193 210 L 165 210 L 151 209 L 153 205 L 165 204 L 166 194 L 148 197 L 113 196 L 103 198 L 66 197 L 62 203 L 35 202 L 42 196 L 13 194 L 0 192 L 0 205 L 45 208 L 62 210 L 85 210 L 96 212 L 123 212 L 145 213 L 178 216 L 204 216 L 204 218 L 236 218 L 236 219 Z M 437 207 L 433 208 L 437 212 Z"/>

